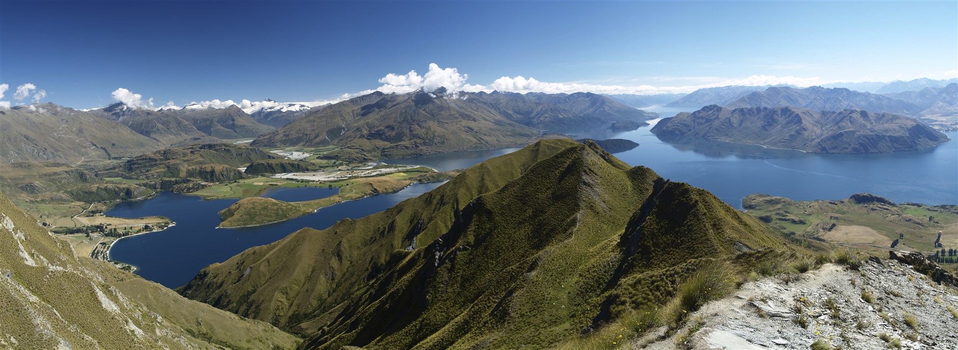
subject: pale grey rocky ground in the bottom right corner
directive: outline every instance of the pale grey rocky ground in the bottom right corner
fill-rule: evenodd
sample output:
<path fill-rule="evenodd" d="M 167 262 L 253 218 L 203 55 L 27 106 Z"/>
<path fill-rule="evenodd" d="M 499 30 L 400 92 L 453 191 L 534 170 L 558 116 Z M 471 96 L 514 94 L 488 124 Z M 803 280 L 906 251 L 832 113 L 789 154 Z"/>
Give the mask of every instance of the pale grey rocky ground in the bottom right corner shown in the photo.
<path fill-rule="evenodd" d="M 908 265 L 873 257 L 857 270 L 827 264 L 795 277 L 746 283 L 691 313 L 693 321 L 673 336 L 658 340 L 653 334 L 625 347 L 808 349 L 816 340 L 845 349 L 894 348 L 891 342 L 906 349 L 958 347 L 952 331 L 958 316 L 947 310 L 958 308 L 958 292 Z M 914 328 L 907 316 L 914 317 Z M 690 329 L 696 331 L 691 337 Z"/>

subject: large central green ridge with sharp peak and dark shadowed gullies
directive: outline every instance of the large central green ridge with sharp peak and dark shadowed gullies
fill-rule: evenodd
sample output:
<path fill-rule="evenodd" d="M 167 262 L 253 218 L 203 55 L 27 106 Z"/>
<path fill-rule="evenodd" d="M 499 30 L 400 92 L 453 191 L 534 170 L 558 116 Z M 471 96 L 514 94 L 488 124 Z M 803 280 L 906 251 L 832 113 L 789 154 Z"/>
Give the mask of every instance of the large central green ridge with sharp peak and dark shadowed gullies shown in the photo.
<path fill-rule="evenodd" d="M 709 259 L 790 250 L 772 232 L 592 142 L 542 140 L 248 249 L 180 292 L 311 335 L 307 348 L 545 347 L 662 305 Z"/>

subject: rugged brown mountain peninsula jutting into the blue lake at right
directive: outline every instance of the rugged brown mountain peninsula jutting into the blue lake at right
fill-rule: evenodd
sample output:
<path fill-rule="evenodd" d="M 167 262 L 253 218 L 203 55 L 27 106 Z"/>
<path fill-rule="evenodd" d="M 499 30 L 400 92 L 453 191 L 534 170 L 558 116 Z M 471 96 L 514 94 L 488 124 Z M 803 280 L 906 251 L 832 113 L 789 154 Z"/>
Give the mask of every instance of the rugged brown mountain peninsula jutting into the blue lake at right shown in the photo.
<path fill-rule="evenodd" d="M 944 133 L 897 114 L 791 106 L 709 105 L 662 119 L 651 132 L 665 138 L 694 137 L 814 153 L 914 151 L 948 141 Z"/>

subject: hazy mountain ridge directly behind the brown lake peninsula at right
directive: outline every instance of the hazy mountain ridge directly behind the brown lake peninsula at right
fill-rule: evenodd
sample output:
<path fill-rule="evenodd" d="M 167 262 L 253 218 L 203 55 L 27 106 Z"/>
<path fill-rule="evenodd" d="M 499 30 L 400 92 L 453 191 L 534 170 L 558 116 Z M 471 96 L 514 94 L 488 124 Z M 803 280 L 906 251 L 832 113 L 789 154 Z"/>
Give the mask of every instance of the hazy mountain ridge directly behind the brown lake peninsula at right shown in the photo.
<path fill-rule="evenodd" d="M 804 89 L 773 86 L 752 92 L 728 104 L 738 107 L 776 107 L 790 105 L 814 110 L 865 109 L 872 112 L 917 115 L 923 108 L 883 95 L 852 91 L 846 88 L 811 86 Z"/>

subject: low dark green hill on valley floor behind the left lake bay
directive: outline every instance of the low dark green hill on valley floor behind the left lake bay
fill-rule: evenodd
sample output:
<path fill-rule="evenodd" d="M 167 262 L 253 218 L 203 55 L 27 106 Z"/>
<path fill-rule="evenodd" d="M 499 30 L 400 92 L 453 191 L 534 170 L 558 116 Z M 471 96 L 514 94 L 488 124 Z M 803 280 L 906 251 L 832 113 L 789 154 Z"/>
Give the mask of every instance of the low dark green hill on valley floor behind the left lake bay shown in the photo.
<path fill-rule="evenodd" d="M 98 175 L 135 179 L 190 177 L 220 182 L 242 178 L 238 167 L 257 160 L 274 158 L 277 156 L 270 152 L 246 145 L 193 145 L 143 154 L 126 160 L 116 169 L 103 170 Z"/>

